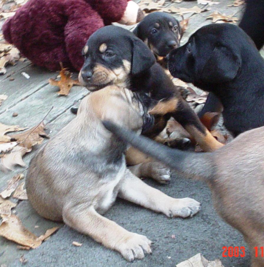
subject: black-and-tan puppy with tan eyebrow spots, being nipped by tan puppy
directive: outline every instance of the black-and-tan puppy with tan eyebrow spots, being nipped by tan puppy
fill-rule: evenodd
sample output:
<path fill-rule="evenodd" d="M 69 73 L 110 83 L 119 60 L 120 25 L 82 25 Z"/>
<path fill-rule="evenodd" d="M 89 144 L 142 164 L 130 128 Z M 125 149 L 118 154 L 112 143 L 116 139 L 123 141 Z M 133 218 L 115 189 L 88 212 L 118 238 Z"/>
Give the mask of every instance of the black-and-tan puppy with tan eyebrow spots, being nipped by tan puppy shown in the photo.
<path fill-rule="evenodd" d="M 194 111 L 176 90 L 174 84 L 156 63 L 151 50 L 130 31 L 106 26 L 90 36 L 83 49 L 85 62 L 80 70 L 79 81 L 89 90 L 98 90 L 115 84 L 149 94 L 154 101 L 168 99 L 173 113 L 163 114 L 162 105 L 155 126 L 147 136 L 158 135 L 171 116 L 184 126 L 206 151 L 213 151 L 221 143 L 209 133 Z M 154 113 L 156 111 L 154 110 Z"/>

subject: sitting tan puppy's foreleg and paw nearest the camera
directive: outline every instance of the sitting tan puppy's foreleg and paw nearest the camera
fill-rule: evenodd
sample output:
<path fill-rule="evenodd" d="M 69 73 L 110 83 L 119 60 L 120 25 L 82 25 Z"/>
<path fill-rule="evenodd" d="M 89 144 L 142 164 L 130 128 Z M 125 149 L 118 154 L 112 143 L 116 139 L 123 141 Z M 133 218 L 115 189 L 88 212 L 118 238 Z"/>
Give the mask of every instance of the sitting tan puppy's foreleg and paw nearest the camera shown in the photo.
<path fill-rule="evenodd" d="M 144 252 L 151 253 L 151 241 L 146 236 L 127 231 L 97 213 L 92 206 L 84 207 L 82 203 L 64 208 L 62 216 L 68 226 L 87 234 L 105 247 L 120 252 L 128 261 L 144 258 Z"/>

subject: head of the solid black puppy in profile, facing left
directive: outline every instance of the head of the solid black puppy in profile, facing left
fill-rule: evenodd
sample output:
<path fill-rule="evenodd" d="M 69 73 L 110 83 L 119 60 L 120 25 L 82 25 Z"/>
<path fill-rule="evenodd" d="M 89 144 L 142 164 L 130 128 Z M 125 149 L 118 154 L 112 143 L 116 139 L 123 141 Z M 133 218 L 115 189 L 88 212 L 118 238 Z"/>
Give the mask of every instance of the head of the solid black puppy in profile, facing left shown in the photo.
<path fill-rule="evenodd" d="M 197 30 L 187 44 L 168 56 L 169 71 L 174 77 L 199 87 L 221 84 L 237 76 L 241 67 L 242 43 L 248 36 L 232 24 L 210 24 Z"/>

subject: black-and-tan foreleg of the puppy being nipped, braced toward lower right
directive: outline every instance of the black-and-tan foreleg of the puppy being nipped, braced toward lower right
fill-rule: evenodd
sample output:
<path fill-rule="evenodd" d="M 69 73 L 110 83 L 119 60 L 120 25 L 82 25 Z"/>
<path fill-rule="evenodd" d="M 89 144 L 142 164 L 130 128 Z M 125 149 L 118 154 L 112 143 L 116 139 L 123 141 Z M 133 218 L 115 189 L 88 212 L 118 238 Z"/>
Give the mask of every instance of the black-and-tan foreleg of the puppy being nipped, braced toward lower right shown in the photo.
<path fill-rule="evenodd" d="M 153 115 L 171 114 L 171 116 L 173 116 L 173 118 L 197 141 L 204 151 L 215 151 L 223 146 L 223 144 L 218 142 L 201 123 L 188 103 L 179 98 L 179 96 L 160 101 L 149 113 Z"/>

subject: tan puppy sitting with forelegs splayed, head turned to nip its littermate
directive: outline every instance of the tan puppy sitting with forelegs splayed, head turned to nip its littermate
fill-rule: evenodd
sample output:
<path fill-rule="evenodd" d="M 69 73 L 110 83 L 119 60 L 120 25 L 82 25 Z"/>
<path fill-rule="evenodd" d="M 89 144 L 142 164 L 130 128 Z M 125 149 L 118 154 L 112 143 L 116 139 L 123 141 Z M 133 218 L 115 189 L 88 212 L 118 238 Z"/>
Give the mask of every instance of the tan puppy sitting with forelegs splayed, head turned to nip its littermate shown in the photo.
<path fill-rule="evenodd" d="M 41 216 L 63 220 L 128 261 L 151 253 L 151 241 L 100 215 L 117 196 L 168 217 L 186 218 L 200 208 L 194 199 L 172 198 L 148 186 L 126 168 L 126 145 L 101 120 L 140 133 L 146 114 L 136 95 L 107 86 L 86 96 L 77 117 L 32 159 L 26 177 L 29 201 Z"/>

